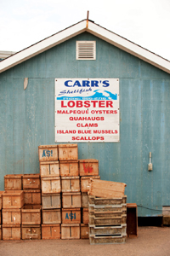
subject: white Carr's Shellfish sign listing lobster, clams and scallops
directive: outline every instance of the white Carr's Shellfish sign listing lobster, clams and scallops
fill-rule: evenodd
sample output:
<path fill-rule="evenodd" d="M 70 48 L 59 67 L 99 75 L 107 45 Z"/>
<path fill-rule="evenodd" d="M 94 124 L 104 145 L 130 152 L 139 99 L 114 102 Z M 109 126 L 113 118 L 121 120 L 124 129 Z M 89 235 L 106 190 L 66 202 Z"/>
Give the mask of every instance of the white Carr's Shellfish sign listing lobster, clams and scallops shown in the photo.
<path fill-rule="evenodd" d="M 55 79 L 55 142 L 119 142 L 119 79 Z"/>

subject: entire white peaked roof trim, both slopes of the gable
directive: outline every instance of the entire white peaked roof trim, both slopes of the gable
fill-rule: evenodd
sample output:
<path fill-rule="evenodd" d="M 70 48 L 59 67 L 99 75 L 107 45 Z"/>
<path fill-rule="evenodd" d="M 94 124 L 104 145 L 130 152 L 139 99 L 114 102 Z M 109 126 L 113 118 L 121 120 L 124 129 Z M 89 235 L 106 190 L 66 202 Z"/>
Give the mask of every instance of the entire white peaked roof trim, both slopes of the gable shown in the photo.
<path fill-rule="evenodd" d="M 45 38 L 37 44 L 33 44 L 29 48 L 23 49 L 20 52 L 11 55 L 7 59 L 0 61 L 0 73 L 85 31 L 94 34 L 98 38 L 115 45 L 127 53 L 134 55 L 167 73 L 170 73 L 170 61 L 165 60 L 161 56 L 156 55 L 137 44 L 133 44 L 127 39 L 116 35 L 114 32 L 106 30 L 104 27 L 96 25 L 90 20 L 88 20 L 88 27 L 86 20 L 82 20 L 76 25 L 70 26 L 63 31 L 54 34 L 53 36 Z"/>

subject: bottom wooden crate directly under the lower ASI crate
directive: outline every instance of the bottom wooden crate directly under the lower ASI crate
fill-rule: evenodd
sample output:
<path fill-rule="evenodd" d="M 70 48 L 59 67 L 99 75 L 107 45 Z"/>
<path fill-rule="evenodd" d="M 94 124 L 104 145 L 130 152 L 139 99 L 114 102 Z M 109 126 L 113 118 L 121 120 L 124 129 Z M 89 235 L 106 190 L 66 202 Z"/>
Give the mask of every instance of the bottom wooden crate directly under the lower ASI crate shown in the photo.
<path fill-rule="evenodd" d="M 80 224 L 61 224 L 61 239 L 80 239 Z"/>

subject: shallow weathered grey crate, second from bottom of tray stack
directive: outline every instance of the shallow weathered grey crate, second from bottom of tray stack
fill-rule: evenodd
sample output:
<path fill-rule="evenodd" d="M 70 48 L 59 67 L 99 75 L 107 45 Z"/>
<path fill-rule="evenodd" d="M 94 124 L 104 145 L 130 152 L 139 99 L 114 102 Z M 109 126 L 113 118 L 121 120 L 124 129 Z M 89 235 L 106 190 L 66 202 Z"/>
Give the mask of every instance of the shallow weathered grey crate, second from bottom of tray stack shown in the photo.
<path fill-rule="evenodd" d="M 89 234 L 90 235 L 127 235 L 127 224 L 120 225 L 108 225 L 108 226 L 99 226 L 99 225 L 89 225 Z"/>

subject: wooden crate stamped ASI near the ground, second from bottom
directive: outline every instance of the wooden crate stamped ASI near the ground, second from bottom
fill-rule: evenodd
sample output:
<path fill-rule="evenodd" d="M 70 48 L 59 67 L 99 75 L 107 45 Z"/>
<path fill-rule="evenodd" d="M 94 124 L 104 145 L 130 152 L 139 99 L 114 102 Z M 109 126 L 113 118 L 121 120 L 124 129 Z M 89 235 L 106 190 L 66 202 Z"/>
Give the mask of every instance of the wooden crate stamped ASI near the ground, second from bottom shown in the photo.
<path fill-rule="evenodd" d="M 62 224 L 81 224 L 81 208 L 62 209 Z"/>

